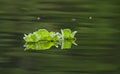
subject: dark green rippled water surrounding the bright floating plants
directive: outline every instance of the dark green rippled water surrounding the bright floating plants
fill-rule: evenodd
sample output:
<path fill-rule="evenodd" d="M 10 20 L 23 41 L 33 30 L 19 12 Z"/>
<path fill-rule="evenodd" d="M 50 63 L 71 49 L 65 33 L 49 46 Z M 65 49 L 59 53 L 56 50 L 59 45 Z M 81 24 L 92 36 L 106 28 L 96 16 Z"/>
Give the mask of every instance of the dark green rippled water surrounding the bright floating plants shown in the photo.
<path fill-rule="evenodd" d="M 24 51 L 24 33 L 76 30 L 70 49 Z M 120 74 L 119 0 L 0 0 L 0 74 Z"/>

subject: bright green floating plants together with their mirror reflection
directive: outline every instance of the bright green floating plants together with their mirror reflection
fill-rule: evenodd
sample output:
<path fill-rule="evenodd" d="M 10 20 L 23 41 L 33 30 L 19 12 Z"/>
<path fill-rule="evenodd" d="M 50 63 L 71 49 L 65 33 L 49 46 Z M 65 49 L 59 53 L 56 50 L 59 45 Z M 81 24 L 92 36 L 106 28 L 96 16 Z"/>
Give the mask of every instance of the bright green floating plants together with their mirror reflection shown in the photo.
<path fill-rule="evenodd" d="M 72 32 L 70 29 L 61 29 L 59 32 L 49 32 L 46 29 L 39 29 L 30 34 L 24 34 L 25 49 L 43 50 L 49 49 L 52 46 L 58 47 L 61 45 L 61 49 L 71 48 L 75 43 L 75 34 L 77 31 Z"/>

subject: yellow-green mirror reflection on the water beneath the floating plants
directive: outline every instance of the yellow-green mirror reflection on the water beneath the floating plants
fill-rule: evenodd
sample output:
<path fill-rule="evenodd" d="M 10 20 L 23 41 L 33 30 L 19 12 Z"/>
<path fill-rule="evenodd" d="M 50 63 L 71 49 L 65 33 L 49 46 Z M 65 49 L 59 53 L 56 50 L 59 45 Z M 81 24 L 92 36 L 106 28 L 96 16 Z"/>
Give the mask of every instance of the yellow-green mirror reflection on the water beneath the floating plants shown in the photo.
<path fill-rule="evenodd" d="M 25 50 L 46 50 L 50 49 L 51 47 L 59 47 L 61 46 L 61 49 L 70 49 L 72 44 L 77 45 L 75 43 L 75 40 L 62 40 L 62 41 L 39 41 L 39 42 L 31 42 L 31 43 L 25 43 L 24 47 Z"/>

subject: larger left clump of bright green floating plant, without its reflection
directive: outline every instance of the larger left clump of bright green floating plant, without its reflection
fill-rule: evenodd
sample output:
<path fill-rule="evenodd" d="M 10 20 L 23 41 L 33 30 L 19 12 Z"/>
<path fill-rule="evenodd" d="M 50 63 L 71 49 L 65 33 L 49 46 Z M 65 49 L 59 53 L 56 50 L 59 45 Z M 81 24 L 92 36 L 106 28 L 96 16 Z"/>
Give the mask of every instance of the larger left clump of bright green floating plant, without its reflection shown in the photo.
<path fill-rule="evenodd" d="M 24 40 L 26 42 L 56 41 L 58 37 L 55 32 L 48 32 L 46 29 L 40 29 L 28 35 L 25 34 Z"/>

